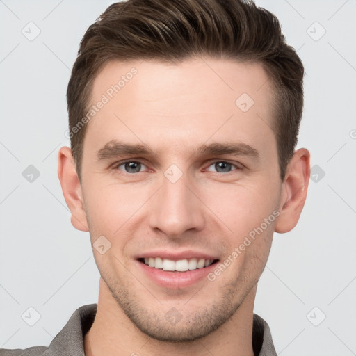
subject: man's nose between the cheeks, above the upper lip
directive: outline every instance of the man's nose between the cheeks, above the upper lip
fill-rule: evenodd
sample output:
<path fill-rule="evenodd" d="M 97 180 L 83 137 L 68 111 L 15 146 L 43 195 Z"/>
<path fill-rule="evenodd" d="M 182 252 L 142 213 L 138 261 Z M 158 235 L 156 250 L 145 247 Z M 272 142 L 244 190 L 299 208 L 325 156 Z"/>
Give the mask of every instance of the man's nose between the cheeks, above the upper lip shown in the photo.
<path fill-rule="evenodd" d="M 204 204 L 196 184 L 187 175 L 174 183 L 163 176 L 162 186 L 154 195 L 150 211 L 151 229 L 159 229 L 169 238 L 182 238 L 186 232 L 204 228 Z"/>

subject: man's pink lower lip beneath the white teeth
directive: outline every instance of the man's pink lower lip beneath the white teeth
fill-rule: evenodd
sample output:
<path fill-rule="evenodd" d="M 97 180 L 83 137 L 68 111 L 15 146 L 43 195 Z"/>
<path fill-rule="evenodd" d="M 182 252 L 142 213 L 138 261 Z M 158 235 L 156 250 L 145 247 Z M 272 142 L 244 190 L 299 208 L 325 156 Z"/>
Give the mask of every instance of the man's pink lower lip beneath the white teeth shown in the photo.
<path fill-rule="evenodd" d="M 143 273 L 147 275 L 159 286 L 170 289 L 181 289 L 196 284 L 204 278 L 207 280 L 207 274 L 216 268 L 216 263 L 204 268 L 197 268 L 196 270 L 187 270 L 186 272 L 172 272 L 169 270 L 162 270 L 159 268 L 149 267 L 143 262 L 136 261 L 139 268 L 142 268 Z"/>

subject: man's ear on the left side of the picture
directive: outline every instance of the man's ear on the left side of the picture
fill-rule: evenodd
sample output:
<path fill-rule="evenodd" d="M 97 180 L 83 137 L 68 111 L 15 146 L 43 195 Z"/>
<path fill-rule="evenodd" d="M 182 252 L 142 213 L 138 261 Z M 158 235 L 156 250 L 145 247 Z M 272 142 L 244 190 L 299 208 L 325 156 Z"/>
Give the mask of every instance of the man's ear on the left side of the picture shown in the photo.
<path fill-rule="evenodd" d="M 58 152 L 58 178 L 65 202 L 72 213 L 72 225 L 87 232 L 88 221 L 83 207 L 83 193 L 70 147 L 61 147 Z"/>

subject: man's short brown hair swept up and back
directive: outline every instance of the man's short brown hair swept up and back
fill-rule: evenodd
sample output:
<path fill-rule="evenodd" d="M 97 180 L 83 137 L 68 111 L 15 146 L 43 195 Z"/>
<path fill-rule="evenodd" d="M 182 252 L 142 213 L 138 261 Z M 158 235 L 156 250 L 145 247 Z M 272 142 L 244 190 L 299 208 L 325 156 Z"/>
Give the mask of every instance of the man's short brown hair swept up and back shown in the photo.
<path fill-rule="evenodd" d="M 283 181 L 298 140 L 304 67 L 277 17 L 252 1 L 128 0 L 109 6 L 83 36 L 72 69 L 70 132 L 86 115 L 92 83 L 109 60 L 179 63 L 201 55 L 252 61 L 266 70 L 275 88 L 273 130 Z M 70 136 L 80 181 L 86 126 Z"/>

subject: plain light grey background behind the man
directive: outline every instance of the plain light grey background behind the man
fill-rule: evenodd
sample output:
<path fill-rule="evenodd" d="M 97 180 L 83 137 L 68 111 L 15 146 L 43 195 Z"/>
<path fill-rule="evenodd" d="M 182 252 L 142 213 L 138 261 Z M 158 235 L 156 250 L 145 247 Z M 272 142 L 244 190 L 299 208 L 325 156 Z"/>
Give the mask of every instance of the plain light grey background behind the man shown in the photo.
<path fill-rule="evenodd" d="M 79 42 L 111 3 L 0 1 L 0 348 L 48 346 L 76 308 L 97 302 L 89 234 L 70 224 L 57 153 L 70 145 L 65 92 Z M 254 311 L 278 355 L 356 355 L 356 1 L 257 4 L 305 65 L 298 148 L 313 169 L 297 227 L 275 234 Z"/>

